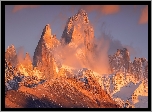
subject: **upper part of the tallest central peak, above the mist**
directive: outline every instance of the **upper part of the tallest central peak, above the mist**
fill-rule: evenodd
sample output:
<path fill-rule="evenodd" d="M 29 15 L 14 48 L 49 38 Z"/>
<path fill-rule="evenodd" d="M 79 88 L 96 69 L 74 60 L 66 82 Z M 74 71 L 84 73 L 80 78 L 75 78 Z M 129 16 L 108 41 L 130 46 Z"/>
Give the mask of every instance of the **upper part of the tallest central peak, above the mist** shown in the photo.
<path fill-rule="evenodd" d="M 78 13 L 68 19 L 62 34 L 62 40 L 65 44 L 72 42 L 76 45 L 85 44 L 87 46 L 87 44 L 91 44 L 93 38 L 94 31 L 89 23 L 87 13 L 80 9 Z"/>

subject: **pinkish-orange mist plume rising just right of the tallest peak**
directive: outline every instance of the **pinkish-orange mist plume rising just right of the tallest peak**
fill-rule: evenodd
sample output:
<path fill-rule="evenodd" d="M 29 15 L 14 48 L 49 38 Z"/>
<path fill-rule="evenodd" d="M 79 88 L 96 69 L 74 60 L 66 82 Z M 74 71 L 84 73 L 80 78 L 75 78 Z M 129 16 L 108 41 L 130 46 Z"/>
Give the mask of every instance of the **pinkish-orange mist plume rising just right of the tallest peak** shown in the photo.
<path fill-rule="evenodd" d="M 110 47 L 110 42 L 103 35 L 100 38 L 95 39 L 96 49 L 95 49 L 95 58 L 93 58 L 91 68 L 93 71 L 100 74 L 109 73 L 109 59 L 108 59 L 108 50 Z M 102 68 L 102 69 L 101 69 Z"/>

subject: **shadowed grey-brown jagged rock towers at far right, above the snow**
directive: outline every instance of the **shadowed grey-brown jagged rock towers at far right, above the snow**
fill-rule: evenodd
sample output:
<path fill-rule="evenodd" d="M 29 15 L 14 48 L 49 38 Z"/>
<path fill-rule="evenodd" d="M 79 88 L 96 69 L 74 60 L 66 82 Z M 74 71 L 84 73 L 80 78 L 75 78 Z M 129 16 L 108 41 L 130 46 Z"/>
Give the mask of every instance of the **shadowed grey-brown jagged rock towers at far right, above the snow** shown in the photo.
<path fill-rule="evenodd" d="M 148 61 L 145 58 L 136 58 L 130 61 L 129 51 L 117 49 L 114 55 L 109 55 L 109 64 L 112 73 L 122 72 L 133 74 L 137 80 L 148 76 Z"/>

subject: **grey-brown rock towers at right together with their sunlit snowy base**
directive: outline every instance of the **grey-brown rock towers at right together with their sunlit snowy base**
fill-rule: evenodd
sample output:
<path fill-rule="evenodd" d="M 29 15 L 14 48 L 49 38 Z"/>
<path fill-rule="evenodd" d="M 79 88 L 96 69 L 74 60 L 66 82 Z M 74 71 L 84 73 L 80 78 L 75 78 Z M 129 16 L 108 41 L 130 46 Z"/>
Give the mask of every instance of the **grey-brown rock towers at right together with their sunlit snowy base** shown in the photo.
<path fill-rule="evenodd" d="M 117 49 L 114 55 L 109 56 L 109 64 L 113 74 L 111 75 L 112 78 L 107 76 L 106 80 L 103 80 L 103 83 L 108 85 L 107 88 L 103 88 L 106 91 L 112 90 L 108 93 L 117 93 L 129 83 L 133 83 L 134 85 L 141 83 L 131 92 L 129 98 L 131 98 L 132 103 L 135 104 L 139 101 L 139 95 L 148 96 L 148 61 L 145 58 L 135 57 L 133 62 L 131 62 L 129 51 L 126 48 L 123 50 Z M 113 89 L 110 89 L 110 87 L 113 87 Z"/>

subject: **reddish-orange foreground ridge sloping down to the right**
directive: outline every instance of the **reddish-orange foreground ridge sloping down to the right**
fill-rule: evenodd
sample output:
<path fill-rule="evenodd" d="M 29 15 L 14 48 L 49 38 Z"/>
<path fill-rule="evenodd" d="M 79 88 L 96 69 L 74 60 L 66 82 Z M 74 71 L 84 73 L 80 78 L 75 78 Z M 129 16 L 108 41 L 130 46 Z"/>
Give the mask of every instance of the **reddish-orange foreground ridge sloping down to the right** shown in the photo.
<path fill-rule="evenodd" d="M 64 73 L 62 72 L 62 74 Z M 86 70 L 83 76 L 88 80 L 86 84 L 79 78 L 58 77 L 55 80 L 51 80 L 50 84 L 44 83 L 35 88 L 22 86 L 17 92 L 8 91 L 5 105 L 14 108 L 16 108 L 16 105 L 22 108 L 120 108 L 101 89 L 91 70 Z M 16 93 L 17 96 L 11 92 Z M 22 97 L 22 95 L 25 96 Z M 32 98 L 30 101 L 24 100 L 30 97 Z M 20 101 L 19 98 L 23 98 L 23 100 Z M 14 105 L 10 104 L 12 101 L 15 101 Z"/>

